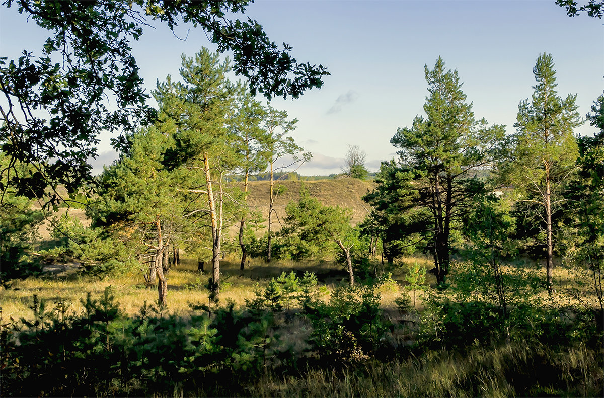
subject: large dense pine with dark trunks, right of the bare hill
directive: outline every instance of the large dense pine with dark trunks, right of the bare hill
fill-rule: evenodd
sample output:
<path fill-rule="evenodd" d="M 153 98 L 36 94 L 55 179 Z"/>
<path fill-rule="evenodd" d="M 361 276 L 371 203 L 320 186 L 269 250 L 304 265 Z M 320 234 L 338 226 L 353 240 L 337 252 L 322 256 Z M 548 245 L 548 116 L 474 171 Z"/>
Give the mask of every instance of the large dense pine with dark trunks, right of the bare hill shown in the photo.
<path fill-rule="evenodd" d="M 449 272 L 451 231 L 458 228 L 471 197 L 483 190 L 474 170 L 492 164 L 504 126 L 489 127 L 486 120 L 474 119 L 457 71 L 447 71 L 442 58 L 434 69 L 424 69 L 426 117 L 417 116 L 411 128 L 397 130 L 390 143 L 399 148 L 399 162 L 382 164 L 384 180 L 376 180 L 376 191 L 365 200 L 384 213 L 403 213 L 394 215 L 402 221 L 402 236 L 420 234 L 434 257 L 431 272 L 443 283 Z M 381 206 L 387 194 L 397 204 L 392 210 Z"/>

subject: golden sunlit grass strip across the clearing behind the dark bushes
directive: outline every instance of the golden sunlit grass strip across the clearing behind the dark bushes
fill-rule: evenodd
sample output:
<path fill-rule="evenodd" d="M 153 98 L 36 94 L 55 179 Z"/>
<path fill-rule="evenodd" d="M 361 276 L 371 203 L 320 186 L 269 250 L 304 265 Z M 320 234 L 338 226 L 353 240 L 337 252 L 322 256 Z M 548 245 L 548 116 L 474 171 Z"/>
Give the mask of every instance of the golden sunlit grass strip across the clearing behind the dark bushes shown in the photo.
<path fill-rule="evenodd" d="M 418 262 L 420 265 L 430 269 L 431 258 L 427 256 L 409 256 L 397 260 L 394 266 L 379 264 L 377 272 L 390 272 L 394 283 L 388 283 L 379 287 L 381 294 L 381 306 L 383 309 L 396 310 L 395 300 L 402 294 L 406 294 L 413 302 L 413 293 L 403 289 L 406 285 L 406 265 Z M 522 261 L 504 267 L 504 272 L 513 272 L 517 267 L 536 268 L 535 263 Z M 198 271 L 198 262 L 193 258 L 182 258 L 177 268 L 172 268 L 168 274 L 168 310 L 176 315 L 188 315 L 191 313 L 190 304 L 209 304 L 208 301 L 208 279 L 211 275 L 211 264 L 205 264 L 205 272 Z M 220 265 L 221 292 L 220 304 L 232 300 L 237 307 L 245 304 L 246 300 L 254 297 L 254 287 L 258 284 L 265 287 L 271 278 L 277 278 L 282 272 L 294 271 L 298 277 L 304 272 L 314 272 L 319 283 L 332 291 L 337 286 L 347 284 L 348 275 L 344 267 L 335 262 L 317 261 L 293 261 L 280 260 L 266 263 L 262 259 L 251 258 L 246 262 L 245 269 L 240 271 L 237 258 L 227 258 Z M 545 270 L 543 277 L 545 279 Z M 541 272 L 538 269 L 536 272 Z M 559 281 L 559 289 L 564 290 L 576 286 L 576 272 L 565 267 L 554 268 L 554 277 Z M 426 285 L 434 286 L 434 275 L 426 275 Z M 145 301 L 147 304 L 155 304 L 157 300 L 156 286 L 146 286 L 141 272 L 132 272 L 102 280 L 96 277 L 86 276 L 77 272 L 61 272 L 59 274 L 45 274 L 39 277 L 30 277 L 25 280 L 15 280 L 10 289 L 0 290 L 0 307 L 2 307 L 2 318 L 14 319 L 21 317 L 31 318 L 29 309 L 33 302 L 33 295 L 49 301 L 50 307 L 59 298 L 66 299 L 71 303 L 71 310 L 78 313 L 83 310 L 80 300 L 86 298 L 91 292 L 93 298 L 100 297 L 106 287 L 111 286 L 115 298 L 119 301 L 121 309 L 128 315 L 138 313 Z M 547 297 L 545 290 L 539 296 L 550 304 L 559 306 L 570 303 L 567 295 L 554 294 L 553 298 Z M 328 296 L 324 297 L 326 300 Z M 416 309 L 423 308 L 422 298 L 416 292 Z"/>

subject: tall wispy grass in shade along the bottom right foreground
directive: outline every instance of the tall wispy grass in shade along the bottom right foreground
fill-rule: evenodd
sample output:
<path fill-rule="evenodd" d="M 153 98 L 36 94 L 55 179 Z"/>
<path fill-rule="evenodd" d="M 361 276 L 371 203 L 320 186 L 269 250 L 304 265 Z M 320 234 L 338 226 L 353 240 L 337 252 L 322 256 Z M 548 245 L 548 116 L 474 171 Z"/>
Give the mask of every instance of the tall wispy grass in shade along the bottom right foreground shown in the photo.
<path fill-rule="evenodd" d="M 343 370 L 272 375 L 252 396 L 277 397 L 523 397 L 604 395 L 602 348 L 550 348 L 513 342 L 465 352 L 428 351 Z"/>

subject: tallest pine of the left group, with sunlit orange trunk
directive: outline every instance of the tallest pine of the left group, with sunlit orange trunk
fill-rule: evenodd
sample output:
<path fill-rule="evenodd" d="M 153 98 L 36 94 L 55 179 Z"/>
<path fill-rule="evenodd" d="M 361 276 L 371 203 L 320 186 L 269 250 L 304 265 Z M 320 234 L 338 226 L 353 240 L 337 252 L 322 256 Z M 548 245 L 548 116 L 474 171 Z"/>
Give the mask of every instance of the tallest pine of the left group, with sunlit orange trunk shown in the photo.
<path fill-rule="evenodd" d="M 168 76 L 153 92 L 159 104 L 158 126 L 175 141 L 164 163 L 190 172 L 179 189 L 207 199 L 204 207 L 189 209 L 189 214 L 210 217 L 213 300 L 220 292 L 225 173 L 237 166 L 236 139 L 229 126 L 235 100 L 243 92 L 241 83 L 226 77 L 230 71 L 228 59 L 221 62 L 219 54 L 203 48 L 194 58 L 182 56 L 181 82 Z"/>

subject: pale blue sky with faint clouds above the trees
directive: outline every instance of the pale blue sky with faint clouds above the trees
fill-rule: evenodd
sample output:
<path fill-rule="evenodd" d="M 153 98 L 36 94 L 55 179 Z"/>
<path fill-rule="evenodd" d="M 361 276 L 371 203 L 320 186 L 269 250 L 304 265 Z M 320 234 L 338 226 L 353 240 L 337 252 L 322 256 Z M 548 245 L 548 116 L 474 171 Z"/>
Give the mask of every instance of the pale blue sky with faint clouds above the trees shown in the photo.
<path fill-rule="evenodd" d="M 367 153 L 370 171 L 396 156 L 390 138 L 423 114 L 424 65 L 433 68 L 439 56 L 457 69 L 475 117 L 506 124 L 508 133 L 519 101 L 533 92 L 541 53 L 553 56 L 558 94 L 577 94 L 583 116 L 604 89 L 604 20 L 571 18 L 554 0 L 257 0 L 246 17 L 271 40 L 291 45 L 298 62 L 332 74 L 321 89 L 271 101 L 299 120 L 292 136 L 313 154 L 298 170 L 303 175 L 340 172 L 349 145 Z M 132 43 L 147 92 L 158 79 L 178 76 L 181 54 L 216 49 L 199 28 L 179 25 L 172 33 L 150 24 Z M 24 49 L 35 54 L 46 37 L 14 6 L 0 8 L 0 57 L 14 59 Z M 577 129 L 593 131 L 588 124 Z M 117 157 L 109 138 L 101 137 L 92 161 L 97 172 Z"/>

